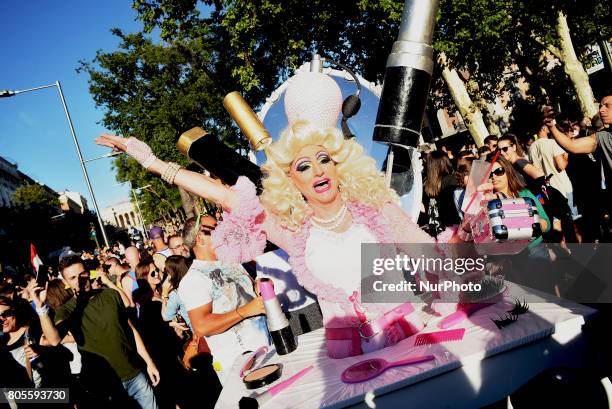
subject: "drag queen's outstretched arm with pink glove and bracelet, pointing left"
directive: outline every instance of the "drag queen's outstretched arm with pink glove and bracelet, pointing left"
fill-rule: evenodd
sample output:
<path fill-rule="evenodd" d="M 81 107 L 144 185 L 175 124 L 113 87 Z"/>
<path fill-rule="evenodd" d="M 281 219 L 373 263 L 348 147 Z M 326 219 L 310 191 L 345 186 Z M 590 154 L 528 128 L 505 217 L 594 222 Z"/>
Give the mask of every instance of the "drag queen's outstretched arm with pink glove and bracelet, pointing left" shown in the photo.
<path fill-rule="evenodd" d="M 104 134 L 96 138 L 96 143 L 127 153 L 148 171 L 157 175 L 163 175 L 168 170 L 169 163 L 156 158 L 151 148 L 136 138 Z M 206 175 L 180 169 L 174 176 L 174 184 L 204 199 L 220 204 L 223 208 L 232 209 L 236 205 L 234 192 Z"/>

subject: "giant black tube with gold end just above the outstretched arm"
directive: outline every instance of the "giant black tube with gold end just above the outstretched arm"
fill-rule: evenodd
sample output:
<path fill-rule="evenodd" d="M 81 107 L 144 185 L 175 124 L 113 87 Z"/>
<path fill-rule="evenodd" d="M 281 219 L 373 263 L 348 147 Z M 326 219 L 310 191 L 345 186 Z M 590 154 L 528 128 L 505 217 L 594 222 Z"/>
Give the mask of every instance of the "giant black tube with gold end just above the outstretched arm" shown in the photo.
<path fill-rule="evenodd" d="M 259 166 L 224 145 L 215 135 L 200 127 L 184 132 L 178 142 L 179 151 L 192 162 L 228 185 L 234 185 L 239 176 L 248 177 L 261 192 L 262 173 Z"/>

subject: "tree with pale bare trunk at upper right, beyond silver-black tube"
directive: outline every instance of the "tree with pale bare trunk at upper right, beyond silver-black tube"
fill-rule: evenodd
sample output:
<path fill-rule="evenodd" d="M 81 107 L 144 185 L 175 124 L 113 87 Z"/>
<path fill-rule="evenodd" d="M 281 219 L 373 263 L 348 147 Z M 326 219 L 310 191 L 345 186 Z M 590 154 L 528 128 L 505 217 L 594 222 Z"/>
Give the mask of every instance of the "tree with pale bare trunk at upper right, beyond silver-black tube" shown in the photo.
<path fill-rule="evenodd" d="M 610 4 L 601 0 L 442 0 L 434 48 L 449 69 L 469 72 L 475 101 L 515 94 L 523 77 L 534 100 L 591 116 L 593 92 L 575 49 L 609 38 L 609 17 Z"/>

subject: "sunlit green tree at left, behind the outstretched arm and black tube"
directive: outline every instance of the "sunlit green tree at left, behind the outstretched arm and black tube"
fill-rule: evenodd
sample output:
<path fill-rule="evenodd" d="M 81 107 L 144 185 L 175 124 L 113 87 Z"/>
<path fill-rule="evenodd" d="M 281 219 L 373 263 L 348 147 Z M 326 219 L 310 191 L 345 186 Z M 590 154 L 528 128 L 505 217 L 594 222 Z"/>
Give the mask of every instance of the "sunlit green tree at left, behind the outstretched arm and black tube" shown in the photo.
<path fill-rule="evenodd" d="M 114 34 L 121 38 L 119 50 L 99 51 L 93 62 L 81 62 L 79 71 L 89 74 L 90 92 L 98 106 L 106 108 L 104 125 L 123 135 L 147 142 L 164 160 L 186 165 L 176 149 L 178 136 L 193 126 L 204 126 L 233 146 L 239 141 L 226 132 L 229 119 L 222 115 L 217 85 L 192 61 L 203 61 L 210 51 L 201 41 L 187 49 L 184 44 L 154 44 L 141 33 Z M 133 188 L 151 185 L 138 195 L 145 219 L 157 220 L 180 205 L 177 189 L 152 176 L 134 160 L 115 159 L 117 179 Z M 158 196 L 155 196 L 156 192 Z M 164 200 L 160 200 L 160 197 Z"/>

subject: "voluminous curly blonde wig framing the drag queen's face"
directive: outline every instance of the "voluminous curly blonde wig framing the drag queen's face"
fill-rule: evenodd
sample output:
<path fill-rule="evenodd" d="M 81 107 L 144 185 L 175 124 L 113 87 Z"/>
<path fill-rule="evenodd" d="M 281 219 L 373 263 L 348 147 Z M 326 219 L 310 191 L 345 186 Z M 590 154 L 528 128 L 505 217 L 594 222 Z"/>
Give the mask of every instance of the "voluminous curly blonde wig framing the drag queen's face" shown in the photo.
<path fill-rule="evenodd" d="M 376 162 L 366 155 L 355 139 L 345 140 L 337 128 L 319 128 L 305 121 L 287 127 L 278 141 L 266 148 L 263 165 L 261 203 L 267 212 L 279 218 L 290 230 L 300 229 L 312 210 L 289 178 L 291 164 L 298 152 L 308 145 L 325 148 L 336 164 L 340 194 L 344 201 L 356 201 L 380 209 L 388 201 L 398 201 L 387 187 Z"/>

